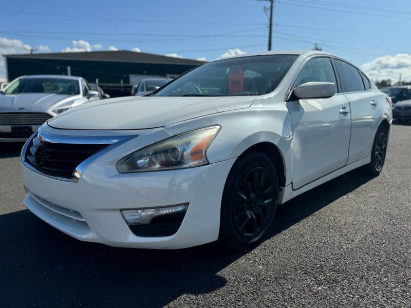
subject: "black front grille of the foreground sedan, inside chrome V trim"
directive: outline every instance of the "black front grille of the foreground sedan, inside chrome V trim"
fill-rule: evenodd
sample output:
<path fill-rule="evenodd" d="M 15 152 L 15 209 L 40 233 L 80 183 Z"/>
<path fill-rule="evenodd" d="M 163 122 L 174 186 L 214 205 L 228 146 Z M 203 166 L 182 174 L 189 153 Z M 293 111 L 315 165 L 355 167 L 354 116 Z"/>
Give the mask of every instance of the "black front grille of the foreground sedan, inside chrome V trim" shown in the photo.
<path fill-rule="evenodd" d="M 81 162 L 109 145 L 44 142 L 36 136 L 27 147 L 26 161 L 43 174 L 70 179 Z"/>

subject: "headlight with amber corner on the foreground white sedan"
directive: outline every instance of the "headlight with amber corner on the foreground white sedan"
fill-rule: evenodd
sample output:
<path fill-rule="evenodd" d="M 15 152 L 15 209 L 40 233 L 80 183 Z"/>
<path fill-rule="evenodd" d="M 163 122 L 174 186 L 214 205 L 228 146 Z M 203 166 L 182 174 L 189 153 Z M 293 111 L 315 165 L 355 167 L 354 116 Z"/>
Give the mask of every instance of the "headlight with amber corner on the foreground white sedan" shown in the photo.
<path fill-rule="evenodd" d="M 139 149 L 117 164 L 120 172 L 189 168 L 208 164 L 206 150 L 220 126 L 180 134 Z"/>

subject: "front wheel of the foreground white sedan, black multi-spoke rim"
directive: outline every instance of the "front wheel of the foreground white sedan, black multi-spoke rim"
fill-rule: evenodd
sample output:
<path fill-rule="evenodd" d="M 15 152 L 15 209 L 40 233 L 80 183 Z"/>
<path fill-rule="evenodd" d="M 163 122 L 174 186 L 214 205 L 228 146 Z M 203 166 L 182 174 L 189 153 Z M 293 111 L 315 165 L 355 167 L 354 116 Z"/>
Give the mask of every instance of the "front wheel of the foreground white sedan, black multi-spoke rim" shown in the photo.
<path fill-rule="evenodd" d="M 274 164 L 264 154 L 241 156 L 227 178 L 221 201 L 219 242 L 234 251 L 250 249 L 272 225 L 278 199 Z"/>

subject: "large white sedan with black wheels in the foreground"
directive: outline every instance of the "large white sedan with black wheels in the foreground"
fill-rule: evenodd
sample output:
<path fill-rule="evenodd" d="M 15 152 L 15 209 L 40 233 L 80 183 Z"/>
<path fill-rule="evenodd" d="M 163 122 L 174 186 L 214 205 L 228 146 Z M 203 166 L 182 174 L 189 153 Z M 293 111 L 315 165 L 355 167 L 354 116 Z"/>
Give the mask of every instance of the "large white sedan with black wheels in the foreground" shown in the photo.
<path fill-rule="evenodd" d="M 198 81 L 213 76 L 219 90 L 206 94 Z M 83 241 L 247 248 L 277 204 L 360 166 L 379 175 L 391 112 L 360 69 L 329 53 L 206 63 L 148 97 L 49 119 L 22 150 L 24 204 Z"/>

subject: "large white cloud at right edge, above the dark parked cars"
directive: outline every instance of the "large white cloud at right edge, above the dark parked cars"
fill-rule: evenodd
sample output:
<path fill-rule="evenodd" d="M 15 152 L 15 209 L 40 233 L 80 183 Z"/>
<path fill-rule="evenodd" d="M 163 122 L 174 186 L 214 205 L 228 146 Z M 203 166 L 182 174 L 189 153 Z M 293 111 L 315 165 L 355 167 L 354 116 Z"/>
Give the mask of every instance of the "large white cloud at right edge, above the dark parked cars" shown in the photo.
<path fill-rule="evenodd" d="M 361 69 L 374 81 L 390 79 L 397 81 L 411 80 L 411 54 L 398 53 L 395 56 L 384 55 L 364 63 Z"/>

